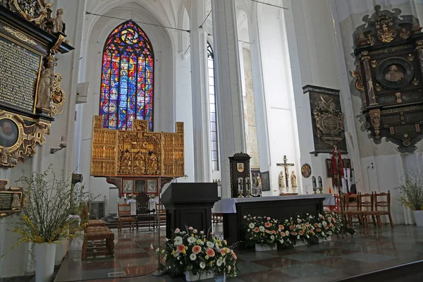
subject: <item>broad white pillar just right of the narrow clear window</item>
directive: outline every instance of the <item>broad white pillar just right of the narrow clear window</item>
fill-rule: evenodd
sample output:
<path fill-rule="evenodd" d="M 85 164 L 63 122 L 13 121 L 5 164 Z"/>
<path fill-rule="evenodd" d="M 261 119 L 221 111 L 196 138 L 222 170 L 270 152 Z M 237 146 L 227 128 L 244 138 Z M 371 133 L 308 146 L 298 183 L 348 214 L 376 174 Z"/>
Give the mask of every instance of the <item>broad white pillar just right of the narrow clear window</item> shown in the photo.
<path fill-rule="evenodd" d="M 235 0 L 212 0 L 212 11 L 222 197 L 231 197 L 228 157 L 246 151 Z"/>

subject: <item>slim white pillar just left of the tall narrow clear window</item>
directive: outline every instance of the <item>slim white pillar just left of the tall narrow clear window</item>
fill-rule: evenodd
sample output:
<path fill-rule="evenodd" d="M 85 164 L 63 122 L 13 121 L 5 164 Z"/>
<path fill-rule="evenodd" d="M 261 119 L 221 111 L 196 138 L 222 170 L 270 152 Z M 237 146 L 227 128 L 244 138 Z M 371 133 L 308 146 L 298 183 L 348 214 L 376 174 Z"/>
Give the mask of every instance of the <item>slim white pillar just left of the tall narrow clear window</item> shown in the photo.
<path fill-rule="evenodd" d="M 195 182 L 212 181 L 207 109 L 207 32 L 200 27 L 206 16 L 206 1 L 191 0 L 190 44 Z"/>

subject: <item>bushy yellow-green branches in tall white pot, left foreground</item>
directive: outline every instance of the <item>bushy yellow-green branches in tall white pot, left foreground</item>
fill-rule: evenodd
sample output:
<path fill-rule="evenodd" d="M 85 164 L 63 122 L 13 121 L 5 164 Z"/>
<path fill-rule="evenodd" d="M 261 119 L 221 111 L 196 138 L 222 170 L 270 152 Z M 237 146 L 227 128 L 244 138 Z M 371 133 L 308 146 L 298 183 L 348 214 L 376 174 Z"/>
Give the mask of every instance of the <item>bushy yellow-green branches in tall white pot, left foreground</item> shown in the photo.
<path fill-rule="evenodd" d="M 56 245 L 76 238 L 69 232 L 71 223 L 78 221 L 82 202 L 90 195 L 83 189 L 72 191 L 71 178 L 56 178 L 52 166 L 42 173 L 31 173 L 17 181 L 23 187 L 22 212 L 14 223 L 13 232 L 22 237 L 20 243 L 35 245 L 35 281 L 51 281 L 54 273 Z M 25 200 L 26 199 L 26 200 Z M 12 247 L 12 248 L 13 248 Z"/>

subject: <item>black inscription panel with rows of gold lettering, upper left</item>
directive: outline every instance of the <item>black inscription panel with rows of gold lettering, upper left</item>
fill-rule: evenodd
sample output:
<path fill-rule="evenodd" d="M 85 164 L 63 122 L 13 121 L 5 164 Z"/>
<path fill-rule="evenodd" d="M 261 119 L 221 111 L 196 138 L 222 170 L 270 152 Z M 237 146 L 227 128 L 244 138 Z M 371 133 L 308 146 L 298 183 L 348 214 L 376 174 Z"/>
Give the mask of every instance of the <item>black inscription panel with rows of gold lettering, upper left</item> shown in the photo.
<path fill-rule="evenodd" d="M 42 56 L 0 36 L 0 104 L 34 112 Z"/>

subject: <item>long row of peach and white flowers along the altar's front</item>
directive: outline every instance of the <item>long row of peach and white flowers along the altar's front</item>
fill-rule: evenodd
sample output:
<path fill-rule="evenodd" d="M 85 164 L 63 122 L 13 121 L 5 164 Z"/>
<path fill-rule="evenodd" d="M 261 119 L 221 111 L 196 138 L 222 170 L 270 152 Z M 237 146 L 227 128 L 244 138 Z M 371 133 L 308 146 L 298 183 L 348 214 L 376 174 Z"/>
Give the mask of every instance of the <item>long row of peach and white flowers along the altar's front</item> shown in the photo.
<path fill-rule="evenodd" d="M 292 247 L 298 242 L 313 243 L 319 238 L 327 240 L 341 233 L 342 221 L 337 214 L 325 212 L 319 216 L 307 214 L 305 219 L 297 216 L 285 221 L 269 217 L 244 216 L 247 245 L 282 245 Z"/>

